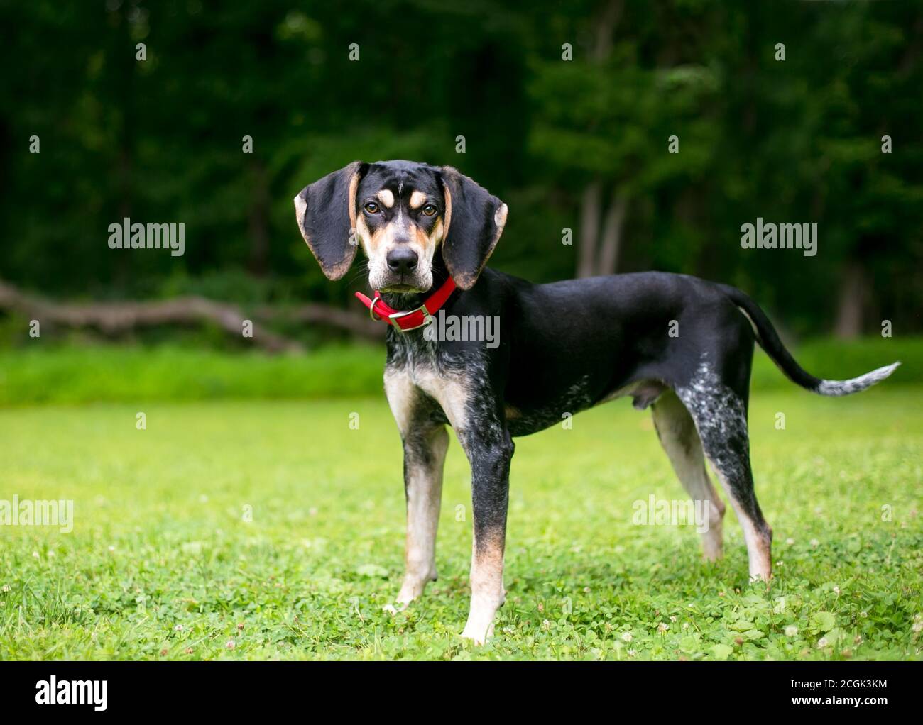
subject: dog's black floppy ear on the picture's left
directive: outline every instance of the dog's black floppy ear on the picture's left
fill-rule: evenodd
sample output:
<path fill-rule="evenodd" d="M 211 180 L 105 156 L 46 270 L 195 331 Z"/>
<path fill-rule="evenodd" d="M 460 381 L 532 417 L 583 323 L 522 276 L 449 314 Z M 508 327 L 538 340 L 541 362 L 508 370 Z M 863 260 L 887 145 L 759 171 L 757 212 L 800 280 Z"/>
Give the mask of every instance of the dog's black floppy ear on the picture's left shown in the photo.
<path fill-rule="evenodd" d="M 298 228 L 327 279 L 340 279 L 353 264 L 355 191 L 365 168 L 361 161 L 353 161 L 294 197 Z"/>

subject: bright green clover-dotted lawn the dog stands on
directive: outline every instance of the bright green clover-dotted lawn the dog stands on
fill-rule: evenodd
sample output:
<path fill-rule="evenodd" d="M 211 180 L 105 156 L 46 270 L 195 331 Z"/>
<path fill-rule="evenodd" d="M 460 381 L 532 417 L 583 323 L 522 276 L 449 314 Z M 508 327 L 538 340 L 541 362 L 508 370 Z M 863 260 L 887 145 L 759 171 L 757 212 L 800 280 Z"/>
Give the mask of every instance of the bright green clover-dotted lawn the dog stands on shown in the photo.
<path fill-rule="evenodd" d="M 485 648 L 459 637 L 471 514 L 454 441 L 440 578 L 382 611 L 404 504 L 381 398 L 0 410 L 0 498 L 73 499 L 76 519 L 0 527 L 0 660 L 919 660 L 919 400 L 893 383 L 754 396 L 770 588 L 748 583 L 730 512 L 713 565 L 692 529 L 631 523 L 634 501 L 682 497 L 649 413 L 621 400 L 519 439 L 508 600 Z"/>

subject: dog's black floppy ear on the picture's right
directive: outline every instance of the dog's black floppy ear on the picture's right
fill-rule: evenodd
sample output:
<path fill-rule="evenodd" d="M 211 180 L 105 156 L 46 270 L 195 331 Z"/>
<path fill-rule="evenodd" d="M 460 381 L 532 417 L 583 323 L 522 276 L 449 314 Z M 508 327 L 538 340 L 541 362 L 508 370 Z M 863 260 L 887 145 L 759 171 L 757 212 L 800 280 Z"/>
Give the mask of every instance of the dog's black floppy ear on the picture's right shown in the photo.
<path fill-rule="evenodd" d="M 481 274 L 507 223 L 507 205 L 451 166 L 442 167 L 446 196 L 442 258 L 455 283 L 468 290 Z"/>

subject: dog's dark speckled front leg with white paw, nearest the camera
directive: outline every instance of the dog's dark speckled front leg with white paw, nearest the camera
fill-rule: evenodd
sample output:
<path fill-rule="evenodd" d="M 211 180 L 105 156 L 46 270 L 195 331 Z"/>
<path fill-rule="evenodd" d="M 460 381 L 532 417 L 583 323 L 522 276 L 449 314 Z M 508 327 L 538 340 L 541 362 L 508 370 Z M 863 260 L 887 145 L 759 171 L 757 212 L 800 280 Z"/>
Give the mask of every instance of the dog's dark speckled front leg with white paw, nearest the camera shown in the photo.
<path fill-rule="evenodd" d="M 474 536 L 471 557 L 471 610 L 462 636 L 484 644 L 494 631 L 494 617 L 503 604 L 503 550 L 509 504 L 509 461 L 513 442 L 498 424 L 487 426 L 497 435 L 460 432 L 471 462 Z"/>

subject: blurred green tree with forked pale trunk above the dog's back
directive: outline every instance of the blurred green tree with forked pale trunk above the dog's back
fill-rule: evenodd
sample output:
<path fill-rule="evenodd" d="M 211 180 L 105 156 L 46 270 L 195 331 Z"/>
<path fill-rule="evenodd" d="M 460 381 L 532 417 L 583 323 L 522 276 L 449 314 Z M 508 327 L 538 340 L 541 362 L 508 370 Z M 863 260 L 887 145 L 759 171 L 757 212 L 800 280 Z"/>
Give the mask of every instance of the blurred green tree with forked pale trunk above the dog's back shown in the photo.
<path fill-rule="evenodd" d="M 652 22 L 644 5 L 628 5 L 607 0 L 587 19 L 560 18 L 566 37 L 584 39 L 581 51 L 535 64 L 531 149 L 557 183 L 580 184 L 580 277 L 615 272 L 631 200 L 701 173 L 713 147 L 715 80 L 692 62 L 701 48 L 664 32 L 672 18 Z M 654 38 L 665 45 L 648 53 Z"/>

